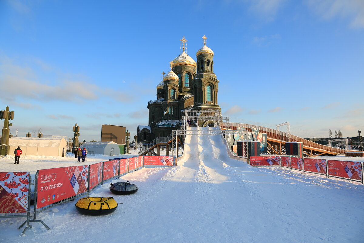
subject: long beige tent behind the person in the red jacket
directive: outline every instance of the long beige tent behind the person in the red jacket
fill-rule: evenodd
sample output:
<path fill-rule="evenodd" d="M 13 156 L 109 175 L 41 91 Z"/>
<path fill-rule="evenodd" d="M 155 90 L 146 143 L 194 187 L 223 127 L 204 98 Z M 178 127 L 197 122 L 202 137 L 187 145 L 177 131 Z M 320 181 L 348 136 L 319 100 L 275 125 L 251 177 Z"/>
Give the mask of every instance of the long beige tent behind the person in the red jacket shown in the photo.
<path fill-rule="evenodd" d="M 20 146 L 23 151 L 21 155 L 44 155 L 44 156 L 64 156 L 66 153 L 66 140 L 62 138 L 9 138 L 10 154 Z"/>

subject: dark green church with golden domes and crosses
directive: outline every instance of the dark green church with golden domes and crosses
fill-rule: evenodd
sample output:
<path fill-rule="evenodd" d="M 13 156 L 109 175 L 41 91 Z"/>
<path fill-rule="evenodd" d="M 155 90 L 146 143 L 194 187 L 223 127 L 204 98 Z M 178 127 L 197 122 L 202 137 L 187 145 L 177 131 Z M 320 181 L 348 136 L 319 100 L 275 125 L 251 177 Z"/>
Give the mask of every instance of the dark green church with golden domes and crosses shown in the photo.
<path fill-rule="evenodd" d="M 157 99 L 148 102 L 149 124 L 138 125 L 138 142 L 169 136 L 181 127 L 184 110 L 220 110 L 214 52 L 206 46 L 206 36 L 202 39 L 203 46 L 196 52 L 197 61 L 185 52 L 185 36 L 181 39 L 182 53 L 170 62 L 171 70 L 167 74 L 162 72 L 164 76 L 157 85 Z"/>

